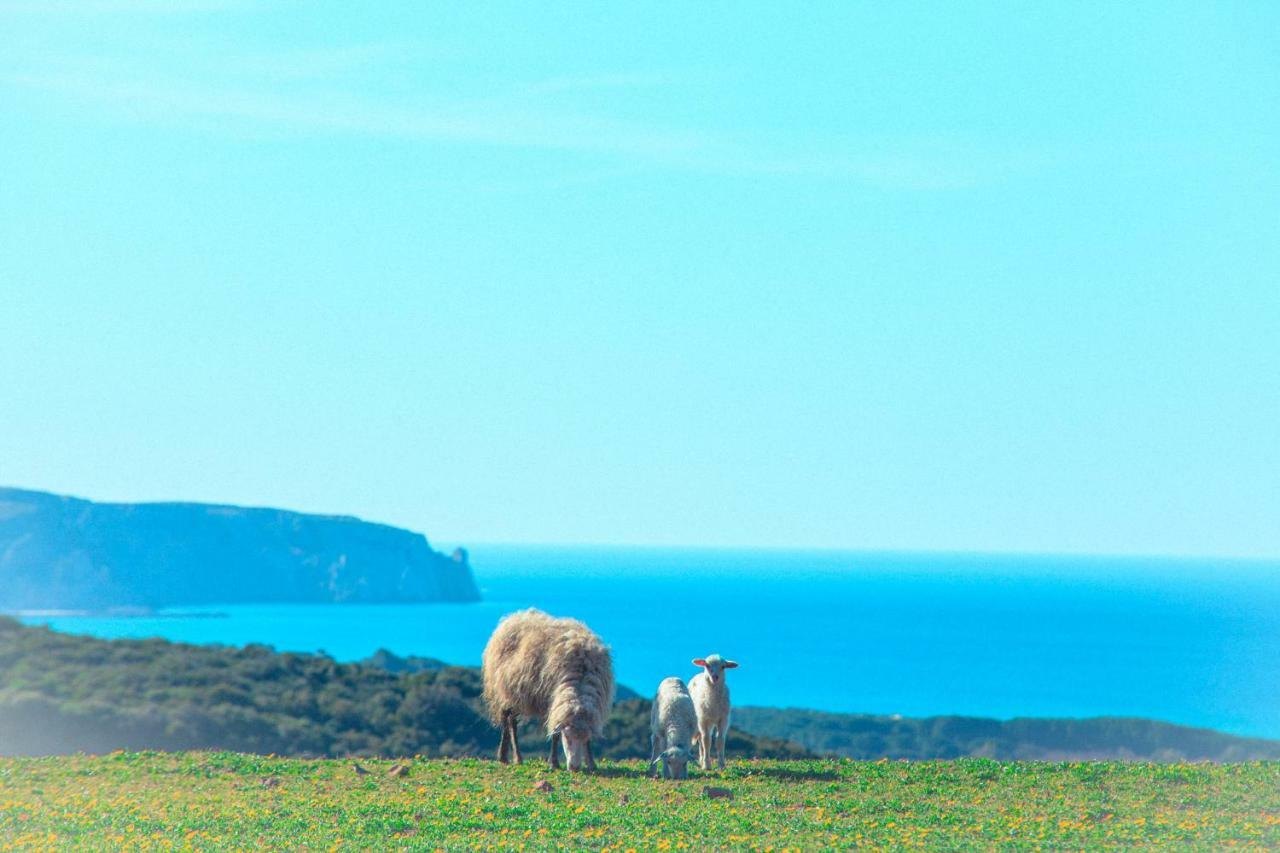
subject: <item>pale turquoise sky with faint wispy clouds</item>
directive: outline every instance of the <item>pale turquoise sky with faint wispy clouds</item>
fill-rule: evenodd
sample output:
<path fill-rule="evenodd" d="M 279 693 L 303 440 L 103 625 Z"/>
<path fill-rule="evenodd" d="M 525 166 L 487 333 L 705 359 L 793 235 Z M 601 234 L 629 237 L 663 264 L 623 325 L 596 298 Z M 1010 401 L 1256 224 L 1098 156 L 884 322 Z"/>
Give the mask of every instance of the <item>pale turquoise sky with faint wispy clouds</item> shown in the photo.
<path fill-rule="evenodd" d="M 1280 556 L 1280 5 L 0 0 L 0 484 Z"/>

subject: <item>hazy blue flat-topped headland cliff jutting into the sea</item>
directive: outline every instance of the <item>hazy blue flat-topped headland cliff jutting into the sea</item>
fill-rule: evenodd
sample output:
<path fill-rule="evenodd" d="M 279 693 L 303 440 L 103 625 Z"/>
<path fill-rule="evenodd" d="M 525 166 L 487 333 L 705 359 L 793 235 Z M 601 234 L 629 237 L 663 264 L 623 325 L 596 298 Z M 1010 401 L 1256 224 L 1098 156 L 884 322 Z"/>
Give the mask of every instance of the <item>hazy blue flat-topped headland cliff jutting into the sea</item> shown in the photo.
<path fill-rule="evenodd" d="M 383 524 L 0 488 L 0 610 L 479 598 L 466 551 Z"/>

